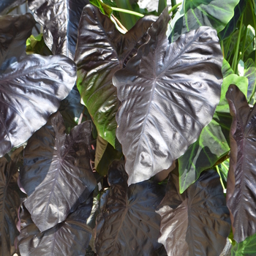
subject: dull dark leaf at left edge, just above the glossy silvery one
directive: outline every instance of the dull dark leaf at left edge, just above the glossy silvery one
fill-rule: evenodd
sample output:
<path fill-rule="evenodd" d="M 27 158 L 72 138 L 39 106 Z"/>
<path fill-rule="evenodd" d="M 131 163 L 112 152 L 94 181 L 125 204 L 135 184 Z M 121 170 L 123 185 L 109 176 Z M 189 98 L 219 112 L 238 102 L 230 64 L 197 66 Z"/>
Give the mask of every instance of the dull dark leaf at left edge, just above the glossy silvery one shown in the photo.
<path fill-rule="evenodd" d="M 0 16 L 0 75 L 9 64 L 26 55 L 26 39 L 34 24 L 30 13 Z"/>

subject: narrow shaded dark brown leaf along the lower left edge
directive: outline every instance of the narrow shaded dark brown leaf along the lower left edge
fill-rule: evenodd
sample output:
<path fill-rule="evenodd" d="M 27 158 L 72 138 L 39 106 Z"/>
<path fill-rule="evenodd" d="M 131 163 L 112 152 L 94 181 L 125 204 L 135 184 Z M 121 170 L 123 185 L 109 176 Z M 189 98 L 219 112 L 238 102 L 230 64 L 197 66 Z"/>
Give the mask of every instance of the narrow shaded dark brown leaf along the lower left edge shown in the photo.
<path fill-rule="evenodd" d="M 18 167 L 23 148 L 16 149 L 8 162 L 5 157 L 0 158 L 0 255 L 13 255 L 15 238 L 19 232 L 18 208 L 20 207 L 20 189 L 18 187 Z"/>

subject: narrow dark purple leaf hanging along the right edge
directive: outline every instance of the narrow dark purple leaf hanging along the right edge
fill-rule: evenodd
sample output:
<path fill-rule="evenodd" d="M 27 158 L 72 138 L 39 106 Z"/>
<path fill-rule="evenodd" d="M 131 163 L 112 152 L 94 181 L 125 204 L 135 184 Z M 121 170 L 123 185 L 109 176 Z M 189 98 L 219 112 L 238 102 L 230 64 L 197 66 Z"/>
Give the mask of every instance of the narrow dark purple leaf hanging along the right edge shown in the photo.
<path fill-rule="evenodd" d="M 230 169 L 227 207 L 234 239 L 239 243 L 256 233 L 256 105 L 252 110 L 237 86 L 226 94 L 233 122 L 230 128 Z"/>

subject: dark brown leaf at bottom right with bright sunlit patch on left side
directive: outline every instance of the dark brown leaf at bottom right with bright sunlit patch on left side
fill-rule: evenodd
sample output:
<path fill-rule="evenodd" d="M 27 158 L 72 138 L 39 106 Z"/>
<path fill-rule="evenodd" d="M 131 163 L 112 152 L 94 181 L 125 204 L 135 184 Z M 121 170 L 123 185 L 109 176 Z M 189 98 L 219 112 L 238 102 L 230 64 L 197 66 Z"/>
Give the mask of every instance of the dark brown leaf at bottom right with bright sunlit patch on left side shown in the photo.
<path fill-rule="evenodd" d="M 230 233 L 225 196 L 214 170 L 204 171 L 183 194 L 171 173 L 157 211 L 162 217 L 159 242 L 168 255 L 219 256 Z"/>

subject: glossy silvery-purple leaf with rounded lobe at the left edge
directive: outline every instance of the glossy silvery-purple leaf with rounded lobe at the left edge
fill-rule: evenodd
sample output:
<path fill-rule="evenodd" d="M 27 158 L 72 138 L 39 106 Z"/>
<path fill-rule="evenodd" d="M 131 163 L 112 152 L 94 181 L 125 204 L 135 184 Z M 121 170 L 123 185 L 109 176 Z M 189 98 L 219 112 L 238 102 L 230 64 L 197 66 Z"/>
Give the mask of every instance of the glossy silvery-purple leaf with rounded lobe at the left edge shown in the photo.
<path fill-rule="evenodd" d="M 75 84 L 65 56 L 23 56 L 0 75 L 0 156 L 28 140 L 58 110 Z"/>

